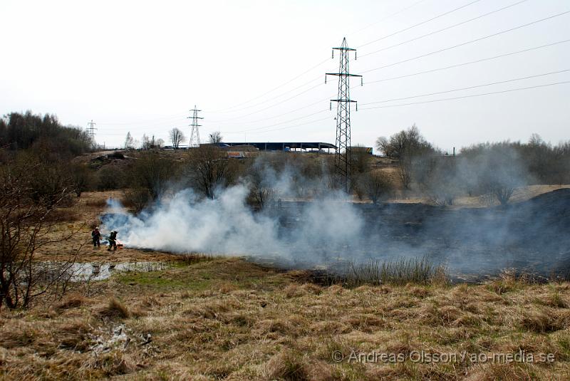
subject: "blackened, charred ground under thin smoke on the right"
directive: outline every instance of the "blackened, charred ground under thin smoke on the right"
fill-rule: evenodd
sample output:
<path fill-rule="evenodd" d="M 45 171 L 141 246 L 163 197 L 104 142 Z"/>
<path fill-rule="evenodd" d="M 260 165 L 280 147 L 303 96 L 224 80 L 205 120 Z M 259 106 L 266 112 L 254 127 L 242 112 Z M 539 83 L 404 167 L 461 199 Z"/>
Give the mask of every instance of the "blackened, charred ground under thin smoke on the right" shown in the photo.
<path fill-rule="evenodd" d="M 306 204 L 283 202 L 278 207 L 283 236 L 302 229 Z M 303 266 L 304 261 L 342 261 L 347 253 L 357 260 L 427 256 L 466 278 L 493 275 L 504 268 L 570 277 L 570 189 L 504 207 L 394 203 L 353 207 L 365 221 L 361 239 L 331 246 L 316 237 L 309 251 L 298 248 L 311 254 L 295 266 Z"/>

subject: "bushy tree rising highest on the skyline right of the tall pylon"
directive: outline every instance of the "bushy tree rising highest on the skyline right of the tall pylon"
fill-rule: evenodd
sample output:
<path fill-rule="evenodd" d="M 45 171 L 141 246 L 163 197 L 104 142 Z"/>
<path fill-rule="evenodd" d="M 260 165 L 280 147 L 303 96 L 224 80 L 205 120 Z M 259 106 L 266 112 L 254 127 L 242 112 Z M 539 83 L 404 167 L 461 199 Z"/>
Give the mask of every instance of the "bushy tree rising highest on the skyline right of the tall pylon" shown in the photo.
<path fill-rule="evenodd" d="M 414 164 L 422 155 L 434 152 L 434 148 L 421 135 L 414 124 L 408 130 L 402 130 L 390 136 L 390 139 L 378 137 L 376 147 L 388 157 L 398 159 L 398 169 L 402 184 L 410 189 L 414 177 Z"/>

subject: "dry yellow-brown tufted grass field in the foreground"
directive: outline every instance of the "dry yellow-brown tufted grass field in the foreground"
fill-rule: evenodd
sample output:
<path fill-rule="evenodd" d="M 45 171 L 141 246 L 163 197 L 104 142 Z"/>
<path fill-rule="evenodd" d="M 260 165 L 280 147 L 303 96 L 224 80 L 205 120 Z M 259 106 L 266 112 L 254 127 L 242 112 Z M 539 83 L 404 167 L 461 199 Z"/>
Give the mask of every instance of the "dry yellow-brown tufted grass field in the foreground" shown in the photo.
<path fill-rule="evenodd" d="M 62 229 L 96 219 L 103 196 L 82 197 Z M 570 379 L 570 283 L 504 273 L 485 284 L 319 286 L 306 271 L 240 258 L 80 254 L 169 266 L 2 310 L 1 379 Z"/>

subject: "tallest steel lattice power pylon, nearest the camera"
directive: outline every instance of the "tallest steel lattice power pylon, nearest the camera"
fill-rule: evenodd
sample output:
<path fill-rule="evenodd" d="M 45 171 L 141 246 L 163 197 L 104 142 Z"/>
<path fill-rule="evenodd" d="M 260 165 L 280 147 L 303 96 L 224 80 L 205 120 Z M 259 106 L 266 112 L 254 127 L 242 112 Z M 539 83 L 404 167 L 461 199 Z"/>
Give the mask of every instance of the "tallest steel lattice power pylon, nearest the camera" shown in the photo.
<path fill-rule="evenodd" d="M 344 189 L 345 192 L 350 192 L 351 189 L 351 170 L 352 170 L 352 156 L 351 156 L 351 103 L 356 103 L 356 100 L 351 100 L 351 77 L 360 77 L 361 85 L 362 75 L 351 74 L 348 71 L 348 52 L 354 52 L 354 59 L 356 60 L 356 49 L 348 48 L 346 38 L 343 38 L 343 43 L 340 48 L 333 48 L 334 51 L 341 52 L 341 63 L 338 67 L 338 73 L 326 73 L 327 75 L 336 75 L 338 77 L 338 95 L 336 99 L 331 99 L 336 102 L 336 152 L 334 157 L 335 166 L 335 182 L 339 188 Z M 356 105 L 358 111 L 358 104 Z"/>

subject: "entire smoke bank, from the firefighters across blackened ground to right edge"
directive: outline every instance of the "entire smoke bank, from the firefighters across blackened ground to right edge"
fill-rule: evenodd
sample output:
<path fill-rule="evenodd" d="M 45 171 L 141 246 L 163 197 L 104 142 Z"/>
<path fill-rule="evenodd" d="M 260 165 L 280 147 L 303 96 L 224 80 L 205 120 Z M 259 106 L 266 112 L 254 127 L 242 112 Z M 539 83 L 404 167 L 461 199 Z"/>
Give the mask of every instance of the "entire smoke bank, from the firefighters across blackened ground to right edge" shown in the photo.
<path fill-rule="evenodd" d="M 110 200 L 103 229 L 118 231 L 128 247 L 254 256 L 294 267 L 427 256 L 457 273 L 507 267 L 549 273 L 570 263 L 570 204 L 564 192 L 483 209 L 358 204 L 328 189 L 322 177 L 254 165 L 257 186 L 275 192 L 274 202 L 261 212 L 247 204 L 252 184 L 218 189 L 215 199 L 183 189 L 136 215 Z M 294 201 L 307 197 L 311 201 Z"/>

